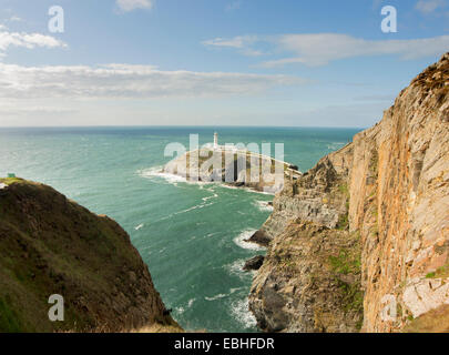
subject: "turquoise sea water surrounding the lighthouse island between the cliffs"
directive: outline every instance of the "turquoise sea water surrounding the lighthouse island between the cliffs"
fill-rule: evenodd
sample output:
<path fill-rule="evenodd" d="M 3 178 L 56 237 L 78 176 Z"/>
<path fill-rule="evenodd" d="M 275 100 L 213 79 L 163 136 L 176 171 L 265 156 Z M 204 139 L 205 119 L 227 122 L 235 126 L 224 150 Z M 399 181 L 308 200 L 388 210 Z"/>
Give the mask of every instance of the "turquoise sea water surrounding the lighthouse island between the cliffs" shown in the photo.
<path fill-rule="evenodd" d="M 156 173 L 164 148 L 188 134 L 200 143 L 284 143 L 299 170 L 345 145 L 356 129 L 70 128 L 0 129 L 0 176 L 52 185 L 115 219 L 150 266 L 154 284 L 186 329 L 255 332 L 247 311 L 253 274 L 241 267 L 264 253 L 243 240 L 271 211 L 273 196 L 217 184 L 192 184 Z M 273 152 L 274 153 L 274 152 Z"/>

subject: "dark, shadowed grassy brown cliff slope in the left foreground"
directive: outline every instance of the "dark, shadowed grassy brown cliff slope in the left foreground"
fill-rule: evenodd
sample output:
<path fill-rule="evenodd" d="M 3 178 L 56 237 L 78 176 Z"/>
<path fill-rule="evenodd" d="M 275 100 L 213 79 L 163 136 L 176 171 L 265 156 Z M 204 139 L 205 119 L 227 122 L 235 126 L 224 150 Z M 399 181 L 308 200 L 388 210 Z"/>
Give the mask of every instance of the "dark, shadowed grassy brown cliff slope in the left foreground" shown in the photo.
<path fill-rule="evenodd" d="M 64 297 L 50 322 L 49 296 Z M 0 332 L 178 329 L 126 232 L 50 186 L 0 179 Z"/>

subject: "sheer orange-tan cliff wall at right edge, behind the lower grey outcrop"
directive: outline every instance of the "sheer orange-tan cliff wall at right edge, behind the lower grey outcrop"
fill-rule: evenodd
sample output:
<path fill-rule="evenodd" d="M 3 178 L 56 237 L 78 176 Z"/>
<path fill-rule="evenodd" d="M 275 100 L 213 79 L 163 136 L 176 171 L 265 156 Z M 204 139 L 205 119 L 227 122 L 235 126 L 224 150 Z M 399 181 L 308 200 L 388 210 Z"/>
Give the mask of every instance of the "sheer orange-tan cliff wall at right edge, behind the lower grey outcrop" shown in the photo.
<path fill-rule="evenodd" d="M 449 304 L 448 275 L 431 276 L 449 263 L 448 93 L 449 53 L 354 139 L 349 224 L 361 234 L 368 332 Z"/>

